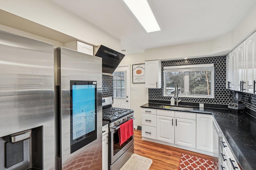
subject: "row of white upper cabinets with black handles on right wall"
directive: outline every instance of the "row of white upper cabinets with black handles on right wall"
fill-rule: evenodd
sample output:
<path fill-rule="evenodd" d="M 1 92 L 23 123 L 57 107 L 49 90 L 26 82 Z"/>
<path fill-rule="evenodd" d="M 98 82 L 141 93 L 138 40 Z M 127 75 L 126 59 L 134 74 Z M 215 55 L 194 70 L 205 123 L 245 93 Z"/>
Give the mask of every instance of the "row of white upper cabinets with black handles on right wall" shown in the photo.
<path fill-rule="evenodd" d="M 226 56 L 226 88 L 255 93 L 256 32 Z"/>

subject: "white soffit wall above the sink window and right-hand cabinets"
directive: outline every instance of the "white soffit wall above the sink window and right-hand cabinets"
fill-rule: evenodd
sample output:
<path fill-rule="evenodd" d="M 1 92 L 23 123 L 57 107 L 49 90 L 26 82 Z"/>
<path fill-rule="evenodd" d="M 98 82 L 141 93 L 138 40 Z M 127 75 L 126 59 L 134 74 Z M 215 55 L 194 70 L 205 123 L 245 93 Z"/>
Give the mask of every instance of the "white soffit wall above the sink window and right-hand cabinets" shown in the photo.
<path fill-rule="evenodd" d="M 145 50 L 145 61 L 147 60 L 170 60 L 214 57 L 227 55 L 232 49 L 248 38 L 256 31 L 256 3 L 252 5 L 248 13 L 234 30 L 214 40 L 195 42 L 188 44 L 172 45 Z"/>

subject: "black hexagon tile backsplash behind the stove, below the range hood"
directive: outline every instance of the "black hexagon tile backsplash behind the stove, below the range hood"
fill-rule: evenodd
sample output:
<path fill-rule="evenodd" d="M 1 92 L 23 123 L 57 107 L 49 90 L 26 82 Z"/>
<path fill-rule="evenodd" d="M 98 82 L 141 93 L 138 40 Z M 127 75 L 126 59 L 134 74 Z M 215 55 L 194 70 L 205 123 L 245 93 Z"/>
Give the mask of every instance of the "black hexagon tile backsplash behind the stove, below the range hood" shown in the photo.
<path fill-rule="evenodd" d="M 102 75 L 102 97 L 113 98 L 113 76 Z"/>

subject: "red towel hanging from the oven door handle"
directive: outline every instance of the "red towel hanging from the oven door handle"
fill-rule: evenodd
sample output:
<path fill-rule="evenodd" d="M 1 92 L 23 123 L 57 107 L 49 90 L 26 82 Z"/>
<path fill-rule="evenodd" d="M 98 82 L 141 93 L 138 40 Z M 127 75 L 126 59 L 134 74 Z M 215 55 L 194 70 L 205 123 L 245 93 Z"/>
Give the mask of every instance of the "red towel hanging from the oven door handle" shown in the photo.
<path fill-rule="evenodd" d="M 133 135 L 133 120 L 130 119 L 126 123 L 123 123 L 119 126 L 118 134 L 119 134 L 119 144 L 120 146 Z"/>

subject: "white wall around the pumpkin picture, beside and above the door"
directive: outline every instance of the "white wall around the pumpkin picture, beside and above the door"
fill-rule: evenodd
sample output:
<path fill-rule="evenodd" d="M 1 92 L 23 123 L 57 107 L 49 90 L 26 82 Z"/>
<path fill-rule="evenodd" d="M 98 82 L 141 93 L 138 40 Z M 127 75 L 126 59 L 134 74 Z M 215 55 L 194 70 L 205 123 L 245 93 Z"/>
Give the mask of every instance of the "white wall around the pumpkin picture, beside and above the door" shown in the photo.
<path fill-rule="evenodd" d="M 122 59 L 120 65 L 130 64 L 131 68 L 133 64 L 145 63 L 144 53 L 134 54 L 134 55 L 125 55 Z M 141 126 L 141 105 L 148 103 L 148 89 L 145 88 L 145 83 L 132 83 L 132 69 L 130 69 L 130 86 L 137 86 L 137 90 L 131 90 L 131 109 L 134 110 L 134 126 Z"/>

